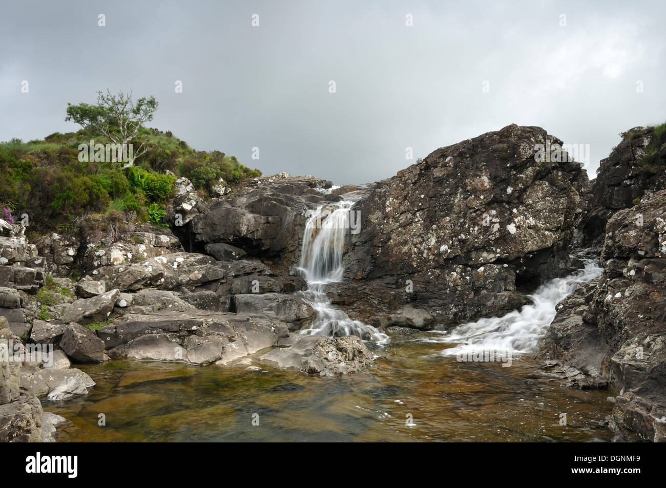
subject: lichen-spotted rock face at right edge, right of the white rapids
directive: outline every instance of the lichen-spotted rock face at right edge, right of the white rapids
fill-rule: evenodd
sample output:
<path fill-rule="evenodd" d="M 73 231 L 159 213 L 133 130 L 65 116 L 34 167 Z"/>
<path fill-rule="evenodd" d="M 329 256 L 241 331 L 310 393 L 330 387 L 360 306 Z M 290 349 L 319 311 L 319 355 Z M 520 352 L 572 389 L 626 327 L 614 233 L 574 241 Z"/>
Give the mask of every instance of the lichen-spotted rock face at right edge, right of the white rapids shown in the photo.
<path fill-rule="evenodd" d="M 666 441 L 666 190 L 608 221 L 603 274 L 558 305 L 551 356 L 611 381 L 620 441 Z"/>

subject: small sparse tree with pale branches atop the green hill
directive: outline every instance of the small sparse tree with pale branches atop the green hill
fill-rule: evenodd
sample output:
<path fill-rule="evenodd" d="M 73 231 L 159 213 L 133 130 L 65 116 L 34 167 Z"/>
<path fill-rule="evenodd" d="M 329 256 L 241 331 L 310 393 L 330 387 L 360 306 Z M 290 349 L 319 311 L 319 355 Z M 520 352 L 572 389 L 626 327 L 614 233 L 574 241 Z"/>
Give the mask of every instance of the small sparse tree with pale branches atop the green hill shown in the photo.
<path fill-rule="evenodd" d="M 143 97 L 135 103 L 131 91 L 129 94 L 119 91 L 113 95 L 107 89 L 107 93 L 97 92 L 97 105 L 68 103 L 65 121 L 76 122 L 94 134 L 107 136 L 115 144 L 122 144 L 124 156 L 127 156 L 129 141 L 137 140 L 139 147 L 133 151 L 131 160 L 123 165 L 123 168 L 129 168 L 136 158 L 151 149 L 147 138 L 141 137 L 139 131 L 143 124 L 153 120 L 158 105 L 155 97 Z"/>

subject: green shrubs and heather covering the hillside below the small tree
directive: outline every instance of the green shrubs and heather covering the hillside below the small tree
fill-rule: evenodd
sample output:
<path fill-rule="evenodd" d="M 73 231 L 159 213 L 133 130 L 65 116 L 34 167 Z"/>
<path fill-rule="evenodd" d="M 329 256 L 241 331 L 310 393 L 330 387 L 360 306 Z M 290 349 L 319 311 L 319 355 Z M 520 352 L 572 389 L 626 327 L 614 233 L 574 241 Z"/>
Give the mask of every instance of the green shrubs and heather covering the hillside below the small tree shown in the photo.
<path fill-rule="evenodd" d="M 81 104 L 86 105 L 86 104 Z M 68 117 L 73 106 L 68 107 Z M 87 107 L 95 107 L 89 106 Z M 197 151 L 169 132 L 140 126 L 129 142 L 143 154 L 123 168 L 121 158 L 89 160 L 80 144 L 113 144 L 104 130 L 89 124 L 78 132 L 55 132 L 43 140 L 0 142 L 0 218 L 29 217 L 29 231 L 73 234 L 87 224 L 160 224 L 165 202 L 178 176 L 206 194 L 223 178 L 234 186 L 259 176 L 219 151 Z M 107 131 L 108 132 L 108 131 Z M 93 158 L 94 159 L 94 158 Z"/>

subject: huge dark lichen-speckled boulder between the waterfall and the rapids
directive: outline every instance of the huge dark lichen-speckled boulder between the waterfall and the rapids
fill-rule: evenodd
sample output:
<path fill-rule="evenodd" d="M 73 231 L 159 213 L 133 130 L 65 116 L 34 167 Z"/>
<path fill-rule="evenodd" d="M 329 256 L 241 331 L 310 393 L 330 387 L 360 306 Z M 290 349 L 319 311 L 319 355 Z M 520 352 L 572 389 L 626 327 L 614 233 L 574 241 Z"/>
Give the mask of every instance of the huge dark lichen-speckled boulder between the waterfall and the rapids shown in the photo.
<path fill-rule="evenodd" d="M 361 190 L 348 284 L 336 291 L 358 296 L 361 318 L 410 303 L 455 324 L 509 312 L 526 303 L 518 287 L 569 272 L 587 178 L 577 162 L 537 162 L 537 144 L 561 141 L 510 125 Z"/>

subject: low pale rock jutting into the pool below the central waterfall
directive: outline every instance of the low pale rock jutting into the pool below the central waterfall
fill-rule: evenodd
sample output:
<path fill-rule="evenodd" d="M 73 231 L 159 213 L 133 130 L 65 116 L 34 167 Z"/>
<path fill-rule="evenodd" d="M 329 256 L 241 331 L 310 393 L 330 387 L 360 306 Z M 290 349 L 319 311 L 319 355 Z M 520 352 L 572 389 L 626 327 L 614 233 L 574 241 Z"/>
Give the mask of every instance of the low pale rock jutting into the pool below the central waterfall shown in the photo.
<path fill-rule="evenodd" d="M 356 336 L 299 336 L 292 346 L 274 349 L 260 360 L 320 376 L 338 376 L 358 373 L 370 366 L 372 354 Z"/>

